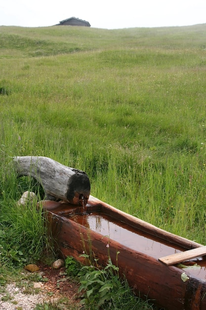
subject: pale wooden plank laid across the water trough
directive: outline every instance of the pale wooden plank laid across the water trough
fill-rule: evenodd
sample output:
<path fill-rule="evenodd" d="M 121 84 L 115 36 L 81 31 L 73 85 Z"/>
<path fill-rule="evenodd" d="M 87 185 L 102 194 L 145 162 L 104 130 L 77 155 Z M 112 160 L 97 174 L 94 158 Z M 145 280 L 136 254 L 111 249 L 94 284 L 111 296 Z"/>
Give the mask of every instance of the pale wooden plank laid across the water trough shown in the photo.
<path fill-rule="evenodd" d="M 166 266 L 177 264 L 188 259 L 206 255 L 206 246 L 159 258 Z"/>

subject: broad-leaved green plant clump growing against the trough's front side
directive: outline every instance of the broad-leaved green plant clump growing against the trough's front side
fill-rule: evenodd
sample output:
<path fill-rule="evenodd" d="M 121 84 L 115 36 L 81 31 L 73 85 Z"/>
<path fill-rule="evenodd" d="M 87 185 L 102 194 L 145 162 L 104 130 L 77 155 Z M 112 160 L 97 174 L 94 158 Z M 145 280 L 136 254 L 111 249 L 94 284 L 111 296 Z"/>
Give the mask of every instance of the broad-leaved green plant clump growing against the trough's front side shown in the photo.
<path fill-rule="evenodd" d="M 96 266 L 82 265 L 78 277 L 81 283 L 79 292 L 83 293 L 81 304 L 85 309 L 124 309 L 142 310 L 152 309 L 152 305 L 147 302 L 142 302 L 135 297 L 129 287 L 126 279 L 120 278 L 119 267 L 114 265 L 109 255 L 105 267 L 98 266 L 97 259 L 93 261 Z M 118 253 L 117 253 L 118 256 Z M 81 257 L 91 258 L 87 254 L 82 254 Z"/>

